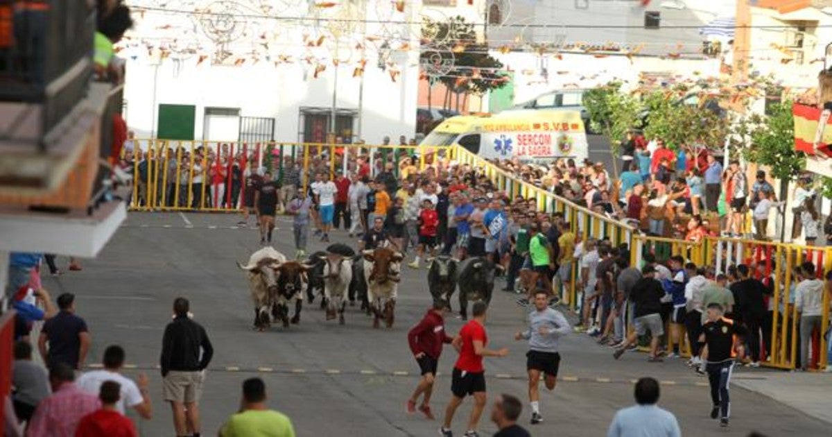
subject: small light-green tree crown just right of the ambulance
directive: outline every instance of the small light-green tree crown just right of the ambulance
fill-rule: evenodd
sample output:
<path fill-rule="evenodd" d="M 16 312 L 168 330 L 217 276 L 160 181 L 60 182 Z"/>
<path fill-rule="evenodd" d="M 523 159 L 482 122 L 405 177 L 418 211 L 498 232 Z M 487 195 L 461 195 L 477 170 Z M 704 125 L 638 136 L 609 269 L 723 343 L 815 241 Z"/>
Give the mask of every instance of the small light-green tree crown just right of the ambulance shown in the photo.
<path fill-rule="evenodd" d="M 588 90 L 582 102 L 589 113 L 590 130 L 609 137 L 617 156 L 626 132 L 641 127 L 641 103 L 631 93 L 622 92 L 622 82 Z"/>

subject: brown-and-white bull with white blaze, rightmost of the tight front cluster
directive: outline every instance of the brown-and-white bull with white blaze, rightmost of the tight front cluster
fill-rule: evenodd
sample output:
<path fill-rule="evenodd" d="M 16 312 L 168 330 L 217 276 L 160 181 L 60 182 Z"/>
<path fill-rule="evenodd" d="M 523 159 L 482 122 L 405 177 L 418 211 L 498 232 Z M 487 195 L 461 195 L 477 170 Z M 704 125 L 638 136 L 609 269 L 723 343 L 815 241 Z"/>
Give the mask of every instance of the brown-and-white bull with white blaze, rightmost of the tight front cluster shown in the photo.
<path fill-rule="evenodd" d="M 387 247 L 364 251 L 363 255 L 364 277 L 367 280 L 369 307 L 373 313 L 373 327 L 378 328 L 379 320 L 383 318 L 385 325 L 391 328 L 404 256 Z"/>

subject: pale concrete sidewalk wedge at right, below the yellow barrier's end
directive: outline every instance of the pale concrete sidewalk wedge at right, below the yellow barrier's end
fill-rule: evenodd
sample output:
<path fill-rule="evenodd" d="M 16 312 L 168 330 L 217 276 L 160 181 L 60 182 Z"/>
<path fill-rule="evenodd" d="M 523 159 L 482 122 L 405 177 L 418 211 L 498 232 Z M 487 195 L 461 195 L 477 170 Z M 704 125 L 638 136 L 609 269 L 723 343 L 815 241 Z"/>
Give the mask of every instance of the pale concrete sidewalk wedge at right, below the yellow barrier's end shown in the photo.
<path fill-rule="evenodd" d="M 742 376 L 731 378 L 731 383 L 832 424 L 832 373 L 760 372 L 753 379 L 751 375 Z"/>

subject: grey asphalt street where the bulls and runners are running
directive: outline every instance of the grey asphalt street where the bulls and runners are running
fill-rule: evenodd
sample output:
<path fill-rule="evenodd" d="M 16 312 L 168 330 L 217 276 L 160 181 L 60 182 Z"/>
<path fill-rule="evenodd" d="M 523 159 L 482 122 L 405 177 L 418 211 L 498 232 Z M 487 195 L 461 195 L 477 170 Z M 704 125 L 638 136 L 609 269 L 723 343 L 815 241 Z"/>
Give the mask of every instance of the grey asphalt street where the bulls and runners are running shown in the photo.
<path fill-rule="evenodd" d="M 176 296 L 191 300 L 195 320 L 206 327 L 215 347 L 201 400 L 204 435 L 215 435 L 237 410 L 240 383 L 253 375 L 264 378 L 270 405 L 290 416 L 300 436 L 436 435 L 438 422 L 404 411 L 418 382 L 406 333 L 428 308 L 427 271 L 404 267 L 396 322 L 390 330 L 374 330 L 358 307 L 348 307 L 346 325 L 325 321 L 316 301 L 305 306 L 300 325 L 257 332 L 251 329 L 245 274 L 235 261 L 247 260 L 259 238 L 257 231 L 236 226 L 239 220 L 240 216 L 222 214 L 134 212 L 101 255 L 84 262 L 83 271 L 44 281 L 53 295 L 77 295 L 77 313 L 87 320 L 93 339 L 87 364 L 99 362 L 107 345 L 120 344 L 131 367 L 126 374 L 150 375 L 154 413 L 152 420 L 141 422 L 142 435 L 173 435 L 156 363 Z M 279 217 L 278 225 L 275 248 L 293 254 L 290 223 Z M 336 231 L 332 240 L 348 238 Z M 310 251 L 323 247 L 310 236 Z M 502 285 L 498 282 L 497 288 Z M 506 346 L 510 355 L 487 358 L 485 365 L 490 396 L 510 393 L 525 400 L 527 348 L 513 340 L 514 332 L 523 328 L 524 313 L 515 300 L 514 294 L 495 291 L 487 321 L 489 346 Z M 461 325 L 453 316 L 447 320 L 451 333 Z M 611 349 L 580 334 L 564 338 L 561 353 L 560 382 L 553 392 L 542 392 L 545 421 L 528 426 L 530 412 L 524 408 L 522 425 L 532 435 L 605 435 L 616 410 L 633 403 L 632 382 L 646 375 L 662 381 L 660 405 L 676 414 L 685 435 L 740 436 L 752 430 L 765 435 L 829 435 L 830 424 L 740 388 L 731 391 L 730 429 L 718 428 L 708 418 L 706 380 L 681 360 L 654 364 L 646 362 L 646 355 L 630 353 L 616 361 Z M 446 348 L 440 360 L 431 403 L 438 417 L 450 398 L 449 373 L 456 355 Z M 739 369 L 734 378 L 760 378 L 768 371 Z M 470 405 L 467 400 L 458 410 L 456 435 L 464 432 Z M 496 431 L 488 417 L 487 410 L 480 424 L 482 435 Z"/>

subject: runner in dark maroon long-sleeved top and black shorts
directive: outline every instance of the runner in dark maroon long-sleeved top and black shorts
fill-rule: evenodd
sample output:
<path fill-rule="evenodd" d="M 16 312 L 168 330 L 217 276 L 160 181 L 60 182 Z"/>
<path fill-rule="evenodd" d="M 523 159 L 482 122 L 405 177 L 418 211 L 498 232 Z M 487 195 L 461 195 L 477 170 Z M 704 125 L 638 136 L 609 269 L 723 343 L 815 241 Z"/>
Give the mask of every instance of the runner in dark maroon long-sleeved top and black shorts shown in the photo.
<path fill-rule="evenodd" d="M 448 304 L 444 300 L 433 300 L 433 307 L 408 332 L 408 344 L 422 371 L 422 380 L 419 381 L 414 394 L 408 400 L 407 411 L 409 414 L 414 413 L 419 395 L 424 394 L 422 405 L 419 405 L 418 410 L 430 420 L 433 420 L 430 395 L 433 394 L 433 381 L 436 377 L 439 355 L 442 354 L 442 345 L 453 340 L 445 332 L 444 315 L 447 308 Z"/>

